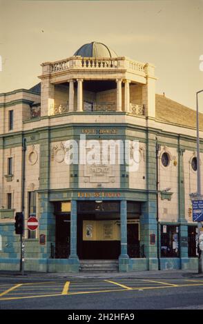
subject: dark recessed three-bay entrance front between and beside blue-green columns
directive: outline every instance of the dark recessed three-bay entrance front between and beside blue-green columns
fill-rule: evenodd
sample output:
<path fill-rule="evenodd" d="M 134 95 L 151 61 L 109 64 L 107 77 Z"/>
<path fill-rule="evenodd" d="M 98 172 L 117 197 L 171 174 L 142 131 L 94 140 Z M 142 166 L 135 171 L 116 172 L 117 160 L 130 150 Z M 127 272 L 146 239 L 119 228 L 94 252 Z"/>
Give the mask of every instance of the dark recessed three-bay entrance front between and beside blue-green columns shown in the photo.
<path fill-rule="evenodd" d="M 70 202 L 55 203 L 55 258 L 70 256 Z M 128 201 L 126 215 L 127 254 L 139 258 L 141 203 Z M 80 260 L 119 259 L 121 254 L 121 202 L 77 201 L 77 256 Z"/>

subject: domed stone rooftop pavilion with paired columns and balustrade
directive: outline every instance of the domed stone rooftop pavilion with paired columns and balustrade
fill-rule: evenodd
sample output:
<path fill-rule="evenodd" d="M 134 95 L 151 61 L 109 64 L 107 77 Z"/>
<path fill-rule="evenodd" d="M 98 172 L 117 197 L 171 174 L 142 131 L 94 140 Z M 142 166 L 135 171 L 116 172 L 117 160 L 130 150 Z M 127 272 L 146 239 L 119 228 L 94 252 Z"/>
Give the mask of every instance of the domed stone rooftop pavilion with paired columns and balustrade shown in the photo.
<path fill-rule="evenodd" d="M 154 65 L 84 44 L 72 57 L 41 64 L 41 116 L 64 112 L 126 112 L 155 117 Z"/>

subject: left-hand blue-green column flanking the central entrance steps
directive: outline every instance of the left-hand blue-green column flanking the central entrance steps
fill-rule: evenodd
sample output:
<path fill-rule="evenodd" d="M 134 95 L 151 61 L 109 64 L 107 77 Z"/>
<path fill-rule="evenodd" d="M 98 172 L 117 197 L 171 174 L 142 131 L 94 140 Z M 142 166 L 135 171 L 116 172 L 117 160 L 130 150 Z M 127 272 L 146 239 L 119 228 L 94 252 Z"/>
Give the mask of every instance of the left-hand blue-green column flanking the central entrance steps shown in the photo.
<path fill-rule="evenodd" d="M 70 210 L 70 256 L 71 265 L 75 265 L 75 271 L 79 270 L 79 259 L 77 256 L 77 201 L 71 201 Z"/>

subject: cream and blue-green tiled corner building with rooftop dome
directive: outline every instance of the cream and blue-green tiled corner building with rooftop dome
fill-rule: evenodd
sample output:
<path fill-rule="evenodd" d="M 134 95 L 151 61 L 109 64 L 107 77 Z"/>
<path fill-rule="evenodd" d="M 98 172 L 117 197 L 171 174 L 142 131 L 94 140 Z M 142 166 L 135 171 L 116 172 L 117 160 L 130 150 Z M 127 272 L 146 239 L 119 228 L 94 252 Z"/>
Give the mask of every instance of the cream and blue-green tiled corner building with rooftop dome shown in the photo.
<path fill-rule="evenodd" d="M 102 43 L 41 67 L 38 85 L 0 94 L 0 270 L 19 270 L 22 208 L 25 270 L 197 269 L 195 111 L 155 94 L 154 65 Z M 67 165 L 81 134 L 139 141 L 138 170 Z"/>

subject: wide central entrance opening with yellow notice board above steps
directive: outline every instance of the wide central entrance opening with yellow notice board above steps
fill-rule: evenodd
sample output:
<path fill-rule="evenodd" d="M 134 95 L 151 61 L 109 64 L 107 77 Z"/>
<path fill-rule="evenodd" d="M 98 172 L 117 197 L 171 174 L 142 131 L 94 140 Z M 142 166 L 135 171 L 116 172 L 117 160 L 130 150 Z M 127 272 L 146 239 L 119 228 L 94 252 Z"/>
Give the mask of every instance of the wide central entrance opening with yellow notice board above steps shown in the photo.
<path fill-rule="evenodd" d="M 79 201 L 77 213 L 79 259 L 118 259 L 121 252 L 119 201 Z"/>

